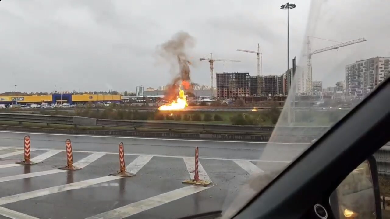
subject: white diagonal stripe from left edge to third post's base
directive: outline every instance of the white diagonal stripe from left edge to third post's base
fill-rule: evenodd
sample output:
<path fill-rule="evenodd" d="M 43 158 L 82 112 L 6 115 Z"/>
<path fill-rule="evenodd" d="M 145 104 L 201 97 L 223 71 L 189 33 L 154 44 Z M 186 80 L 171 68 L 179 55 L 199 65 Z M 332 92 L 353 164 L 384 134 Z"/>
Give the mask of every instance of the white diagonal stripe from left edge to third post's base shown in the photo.
<path fill-rule="evenodd" d="M 53 187 L 49 187 L 49 188 L 45 188 L 45 189 L 39 189 L 39 190 L 27 192 L 27 193 L 6 196 L 3 198 L 0 198 L 0 205 L 5 205 L 8 203 L 14 203 L 16 201 L 22 201 L 22 200 L 26 200 L 26 199 L 30 199 L 30 198 L 36 198 L 36 197 L 59 193 L 59 192 L 63 192 L 63 191 L 81 189 L 81 188 L 85 188 L 85 187 L 90 186 L 90 185 L 108 182 L 108 181 L 116 180 L 119 178 L 122 178 L 122 177 L 119 177 L 119 176 L 99 177 L 99 178 L 93 178 L 90 180 L 84 180 L 84 181 L 74 182 L 74 183 L 65 184 L 65 185 L 57 185 L 57 186 L 53 186 Z"/>

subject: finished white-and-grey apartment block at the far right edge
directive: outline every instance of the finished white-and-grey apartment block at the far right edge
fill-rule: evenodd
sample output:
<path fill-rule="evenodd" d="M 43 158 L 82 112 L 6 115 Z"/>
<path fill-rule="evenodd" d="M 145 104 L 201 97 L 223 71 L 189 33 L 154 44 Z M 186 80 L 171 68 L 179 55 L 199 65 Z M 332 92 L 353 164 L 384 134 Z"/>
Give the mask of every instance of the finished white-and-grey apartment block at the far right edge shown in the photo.
<path fill-rule="evenodd" d="M 364 97 L 389 76 L 389 57 L 357 61 L 345 67 L 346 95 Z"/>

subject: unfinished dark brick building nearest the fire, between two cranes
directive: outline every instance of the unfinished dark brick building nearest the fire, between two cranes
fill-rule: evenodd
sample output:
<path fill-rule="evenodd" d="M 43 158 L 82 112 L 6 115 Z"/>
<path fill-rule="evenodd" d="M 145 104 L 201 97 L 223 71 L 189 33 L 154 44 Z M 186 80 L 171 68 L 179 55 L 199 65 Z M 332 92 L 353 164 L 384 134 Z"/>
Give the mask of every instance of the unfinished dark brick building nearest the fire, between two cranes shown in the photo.
<path fill-rule="evenodd" d="M 250 76 L 248 72 L 216 73 L 217 98 L 247 97 Z"/>

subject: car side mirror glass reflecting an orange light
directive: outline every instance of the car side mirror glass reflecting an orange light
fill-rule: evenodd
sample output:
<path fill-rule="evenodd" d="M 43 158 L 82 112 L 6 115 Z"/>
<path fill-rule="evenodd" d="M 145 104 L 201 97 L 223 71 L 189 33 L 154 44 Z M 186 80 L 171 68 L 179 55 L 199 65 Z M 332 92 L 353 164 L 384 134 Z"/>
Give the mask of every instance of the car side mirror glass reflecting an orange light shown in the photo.
<path fill-rule="evenodd" d="M 333 191 L 329 202 L 335 218 L 382 218 L 375 158 L 370 156 L 349 173 Z"/>

